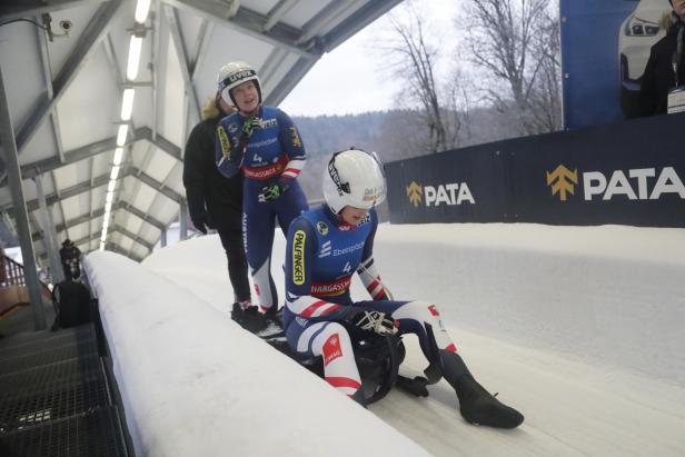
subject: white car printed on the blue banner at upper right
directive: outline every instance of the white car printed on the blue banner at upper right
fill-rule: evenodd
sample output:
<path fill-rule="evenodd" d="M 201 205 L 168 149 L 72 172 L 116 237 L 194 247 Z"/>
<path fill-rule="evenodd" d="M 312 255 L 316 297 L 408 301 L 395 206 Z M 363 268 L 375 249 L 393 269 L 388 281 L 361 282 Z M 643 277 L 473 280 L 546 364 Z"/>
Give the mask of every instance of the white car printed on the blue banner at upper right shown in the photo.
<path fill-rule="evenodd" d="M 632 117 L 639 81 L 652 46 L 661 40 L 666 31 L 659 28 L 659 21 L 673 9 L 668 0 L 625 0 L 635 3 L 635 10 L 621 24 L 618 32 L 618 61 L 621 66 L 621 101 L 623 112 Z"/>

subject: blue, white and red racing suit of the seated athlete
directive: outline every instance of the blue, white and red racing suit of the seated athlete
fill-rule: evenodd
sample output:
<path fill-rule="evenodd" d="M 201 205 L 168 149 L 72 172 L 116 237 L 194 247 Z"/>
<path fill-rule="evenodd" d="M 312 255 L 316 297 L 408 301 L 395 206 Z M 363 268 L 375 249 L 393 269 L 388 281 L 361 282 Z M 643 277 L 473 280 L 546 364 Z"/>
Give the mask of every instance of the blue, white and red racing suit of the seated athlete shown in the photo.
<path fill-rule="evenodd" d="M 322 356 L 326 380 L 353 396 L 361 386 L 345 325 L 357 307 L 391 315 L 399 334 L 416 334 L 424 355 L 433 360 L 435 346 L 455 352 L 435 307 L 426 301 L 391 301 L 374 265 L 376 210 L 358 226 L 345 223 L 328 206 L 311 209 L 290 225 L 286 249 L 286 307 L 284 327 L 292 350 Z M 355 271 L 371 300 L 354 301 L 349 286 Z"/>

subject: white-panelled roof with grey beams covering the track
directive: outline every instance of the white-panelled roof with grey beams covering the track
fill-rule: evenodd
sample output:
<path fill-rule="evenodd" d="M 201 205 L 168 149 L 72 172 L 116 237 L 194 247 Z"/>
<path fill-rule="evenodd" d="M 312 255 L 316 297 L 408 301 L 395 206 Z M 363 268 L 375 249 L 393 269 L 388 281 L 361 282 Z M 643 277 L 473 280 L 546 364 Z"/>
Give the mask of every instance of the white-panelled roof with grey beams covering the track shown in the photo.
<path fill-rule="evenodd" d="M 399 1 L 156 0 L 142 23 L 135 0 L 1 6 L 0 69 L 37 258 L 47 257 L 46 219 L 58 246 L 70 238 L 83 252 L 100 247 L 108 186 L 106 248 L 145 258 L 179 219 L 182 148 L 216 92 L 218 69 L 249 62 L 265 103 L 278 105 L 324 53 Z M 131 36 L 142 38 L 135 79 L 127 76 Z M 129 121 L 120 116 L 125 89 L 135 90 Z M 122 125 L 123 158 L 110 185 Z M 6 158 L 0 212 L 11 231 L 17 202 Z"/>

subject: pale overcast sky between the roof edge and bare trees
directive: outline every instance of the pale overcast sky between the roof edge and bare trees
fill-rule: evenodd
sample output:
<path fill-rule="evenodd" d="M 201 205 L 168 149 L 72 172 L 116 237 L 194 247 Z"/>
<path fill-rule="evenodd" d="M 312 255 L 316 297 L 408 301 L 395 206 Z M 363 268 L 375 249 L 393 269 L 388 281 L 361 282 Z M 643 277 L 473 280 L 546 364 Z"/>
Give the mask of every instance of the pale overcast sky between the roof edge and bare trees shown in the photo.
<path fill-rule="evenodd" d="M 454 48 L 449 39 L 456 13 L 454 0 L 417 1 L 421 13 L 443 38 L 440 52 Z M 403 8 L 400 4 L 393 11 Z M 356 36 L 324 54 L 300 83 L 280 103 L 290 116 L 346 115 L 391 109 L 401 86 L 389 79 L 383 52 L 377 49 L 388 21 L 381 17 Z"/>

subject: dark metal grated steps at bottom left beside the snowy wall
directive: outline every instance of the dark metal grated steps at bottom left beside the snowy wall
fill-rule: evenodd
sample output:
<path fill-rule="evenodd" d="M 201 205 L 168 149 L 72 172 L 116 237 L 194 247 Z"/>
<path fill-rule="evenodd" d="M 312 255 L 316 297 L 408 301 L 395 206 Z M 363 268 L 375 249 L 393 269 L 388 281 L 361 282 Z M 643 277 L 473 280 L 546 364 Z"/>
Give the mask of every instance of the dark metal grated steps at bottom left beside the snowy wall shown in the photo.
<path fill-rule="evenodd" d="M 0 456 L 131 456 L 92 324 L 0 339 Z"/>

